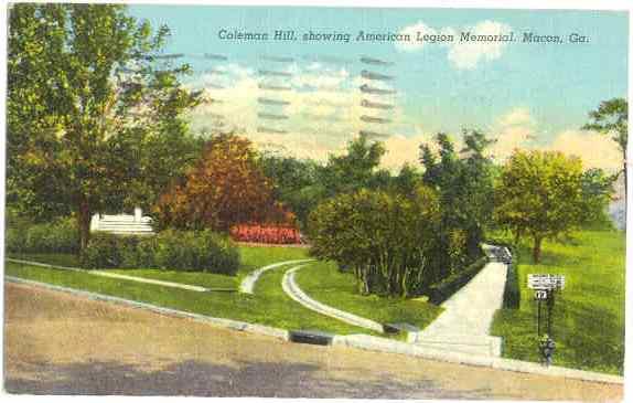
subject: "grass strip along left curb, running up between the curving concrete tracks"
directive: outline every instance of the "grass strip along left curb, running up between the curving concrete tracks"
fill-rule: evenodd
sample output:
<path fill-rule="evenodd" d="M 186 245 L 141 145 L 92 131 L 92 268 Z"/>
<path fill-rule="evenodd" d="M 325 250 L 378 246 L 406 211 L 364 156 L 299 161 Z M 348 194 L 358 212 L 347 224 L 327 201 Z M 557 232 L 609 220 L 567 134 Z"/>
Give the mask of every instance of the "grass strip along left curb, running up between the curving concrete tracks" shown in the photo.
<path fill-rule="evenodd" d="M 298 248 L 275 248 L 275 251 L 268 252 L 254 251 L 254 247 L 247 247 L 247 250 L 248 257 L 245 258 L 245 262 L 250 261 L 253 268 L 272 263 L 275 262 L 273 258 L 278 257 L 279 261 L 283 261 L 305 256 L 305 250 Z M 264 258 L 261 264 L 257 264 L 255 261 L 258 255 Z M 287 297 L 281 288 L 281 277 L 283 273 L 291 267 L 292 265 L 280 267 L 264 274 L 256 285 L 255 295 L 240 293 L 196 293 L 151 284 L 93 276 L 87 273 L 50 269 L 11 262 L 6 262 L 6 274 L 190 312 L 219 318 L 232 318 L 286 329 L 318 329 L 339 335 L 368 332 L 363 328 L 350 326 L 305 309 Z M 248 271 L 248 268 L 245 271 Z M 135 271 L 121 271 L 121 273 L 126 274 L 131 274 L 132 272 Z M 157 272 L 160 273 L 160 271 Z M 178 274 L 194 275 L 194 273 L 183 272 L 179 272 Z"/>

